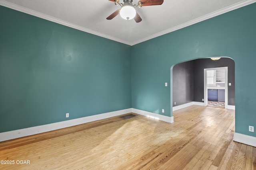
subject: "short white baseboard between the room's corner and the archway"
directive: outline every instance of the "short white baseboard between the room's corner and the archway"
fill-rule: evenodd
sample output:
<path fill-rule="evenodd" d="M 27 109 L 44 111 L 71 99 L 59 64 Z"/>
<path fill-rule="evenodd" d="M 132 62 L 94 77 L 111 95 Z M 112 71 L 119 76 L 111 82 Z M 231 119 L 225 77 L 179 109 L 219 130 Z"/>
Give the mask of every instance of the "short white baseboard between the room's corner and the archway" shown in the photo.
<path fill-rule="evenodd" d="M 132 113 L 136 113 L 136 114 L 143 115 L 143 116 L 146 116 L 146 117 L 150 117 L 150 118 L 153 118 L 153 119 L 158 119 L 158 120 L 165 121 L 165 122 L 168 122 L 168 123 L 173 123 L 174 122 L 173 116 L 169 117 L 169 116 L 165 116 L 165 115 L 159 115 L 159 114 L 156 114 L 156 113 L 152 113 L 152 112 L 148 112 L 148 111 L 144 111 L 144 110 L 139 110 L 139 109 L 134 109 L 134 108 L 132 108 Z"/>

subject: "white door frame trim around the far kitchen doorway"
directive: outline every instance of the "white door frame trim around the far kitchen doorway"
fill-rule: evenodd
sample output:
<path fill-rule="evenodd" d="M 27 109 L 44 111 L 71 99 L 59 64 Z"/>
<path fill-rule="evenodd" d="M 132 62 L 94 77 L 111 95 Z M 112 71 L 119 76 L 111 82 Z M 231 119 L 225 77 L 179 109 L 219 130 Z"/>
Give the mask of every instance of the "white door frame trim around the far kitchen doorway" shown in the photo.
<path fill-rule="evenodd" d="M 228 67 L 204 68 L 204 106 L 208 104 L 207 70 L 225 70 L 225 109 L 228 108 Z"/>

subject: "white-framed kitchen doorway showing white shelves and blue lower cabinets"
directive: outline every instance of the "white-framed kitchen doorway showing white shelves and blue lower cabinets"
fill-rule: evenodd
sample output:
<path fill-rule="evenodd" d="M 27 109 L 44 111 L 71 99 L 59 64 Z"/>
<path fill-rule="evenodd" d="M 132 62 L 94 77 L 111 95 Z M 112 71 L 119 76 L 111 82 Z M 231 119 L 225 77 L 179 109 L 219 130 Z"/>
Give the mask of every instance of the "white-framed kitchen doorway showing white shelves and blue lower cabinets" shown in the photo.
<path fill-rule="evenodd" d="M 204 69 L 204 106 L 228 107 L 228 67 Z"/>

